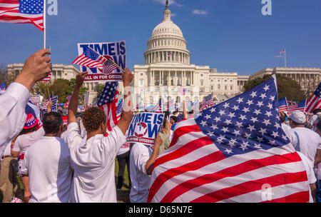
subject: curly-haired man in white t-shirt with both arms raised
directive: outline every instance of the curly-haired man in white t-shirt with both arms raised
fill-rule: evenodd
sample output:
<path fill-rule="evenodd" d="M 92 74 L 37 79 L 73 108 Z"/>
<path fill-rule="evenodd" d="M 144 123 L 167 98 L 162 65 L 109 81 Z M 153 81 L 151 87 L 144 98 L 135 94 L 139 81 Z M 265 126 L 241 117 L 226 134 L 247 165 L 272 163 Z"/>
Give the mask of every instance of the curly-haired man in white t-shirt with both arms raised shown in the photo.
<path fill-rule="evenodd" d="M 76 121 L 79 89 L 87 72 L 76 76 L 76 86 L 68 106 L 68 148 L 74 163 L 74 178 L 71 202 L 116 203 L 115 159 L 126 143 L 126 131 L 133 118 L 130 85 L 133 74 L 129 69 L 123 72 L 123 112 L 118 124 L 105 137 L 106 115 L 98 107 L 86 109 L 83 126 L 86 128 L 86 143 L 79 133 Z"/>

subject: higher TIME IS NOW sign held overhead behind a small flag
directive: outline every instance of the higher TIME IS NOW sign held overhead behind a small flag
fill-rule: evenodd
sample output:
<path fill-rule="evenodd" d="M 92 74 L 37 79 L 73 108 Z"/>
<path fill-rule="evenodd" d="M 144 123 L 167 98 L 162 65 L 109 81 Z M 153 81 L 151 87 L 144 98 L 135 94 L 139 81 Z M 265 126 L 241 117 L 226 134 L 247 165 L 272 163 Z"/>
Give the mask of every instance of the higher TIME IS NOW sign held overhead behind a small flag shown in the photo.
<path fill-rule="evenodd" d="M 89 46 L 106 59 L 112 59 L 122 69 L 126 68 L 126 42 L 78 43 L 78 55 L 83 54 L 83 49 Z M 108 74 L 103 74 L 103 68 L 88 68 L 81 66 L 81 72 L 88 71 L 84 82 L 122 81 L 122 71 L 114 69 Z M 108 70 L 107 70 L 108 71 Z"/>

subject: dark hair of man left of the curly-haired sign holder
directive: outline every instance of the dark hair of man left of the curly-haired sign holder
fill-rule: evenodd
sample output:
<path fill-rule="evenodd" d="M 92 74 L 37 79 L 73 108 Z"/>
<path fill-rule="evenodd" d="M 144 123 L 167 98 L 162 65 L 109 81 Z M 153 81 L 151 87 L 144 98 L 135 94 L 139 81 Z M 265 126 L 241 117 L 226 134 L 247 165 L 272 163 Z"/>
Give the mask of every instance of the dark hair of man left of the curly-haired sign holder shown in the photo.
<path fill-rule="evenodd" d="M 60 126 L 63 125 L 61 113 L 56 111 L 46 113 L 42 123 L 44 124 L 44 131 L 46 134 L 57 133 Z"/>

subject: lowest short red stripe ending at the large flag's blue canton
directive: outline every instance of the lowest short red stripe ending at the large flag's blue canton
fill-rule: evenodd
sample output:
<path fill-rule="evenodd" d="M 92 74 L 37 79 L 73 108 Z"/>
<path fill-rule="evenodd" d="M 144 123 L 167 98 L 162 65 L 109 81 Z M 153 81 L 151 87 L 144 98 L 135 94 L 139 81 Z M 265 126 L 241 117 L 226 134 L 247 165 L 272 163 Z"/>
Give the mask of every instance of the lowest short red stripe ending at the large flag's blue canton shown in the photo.
<path fill-rule="evenodd" d="M 212 142 L 213 143 L 213 142 Z M 161 173 L 158 178 L 153 182 L 150 192 L 148 195 L 148 201 L 150 202 L 153 196 L 157 193 L 159 188 L 168 181 L 170 178 L 173 178 L 174 176 L 178 176 L 182 173 L 185 173 L 186 171 L 195 171 L 199 168 L 202 168 L 203 166 L 206 166 L 210 163 L 215 163 L 216 161 L 220 161 L 224 159 L 225 156 L 221 151 L 215 151 L 213 153 L 210 153 L 208 156 L 204 156 L 203 158 L 199 158 L 196 161 L 192 161 L 190 163 L 186 163 L 183 166 L 179 166 L 176 168 L 171 168 L 168 171 L 165 171 Z"/>

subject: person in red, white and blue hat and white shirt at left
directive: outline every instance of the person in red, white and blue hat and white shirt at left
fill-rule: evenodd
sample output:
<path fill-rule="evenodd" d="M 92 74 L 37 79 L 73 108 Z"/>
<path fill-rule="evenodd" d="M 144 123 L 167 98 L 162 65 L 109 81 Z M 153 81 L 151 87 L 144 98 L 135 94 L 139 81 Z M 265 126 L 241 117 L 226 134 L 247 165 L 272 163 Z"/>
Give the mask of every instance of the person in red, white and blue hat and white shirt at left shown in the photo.
<path fill-rule="evenodd" d="M 16 138 L 14 143 L 14 147 L 11 150 L 11 155 L 15 157 L 19 156 L 19 168 L 18 172 L 21 176 L 21 162 L 24 160 L 24 154 L 28 150 L 28 148 L 34 144 L 36 141 L 45 135 L 44 128 L 41 126 L 39 128 L 39 120 L 34 118 L 32 113 L 28 113 L 26 117 L 26 122 L 24 123 L 24 128 L 19 133 L 19 136 Z M 38 130 L 37 130 L 38 129 Z"/>

